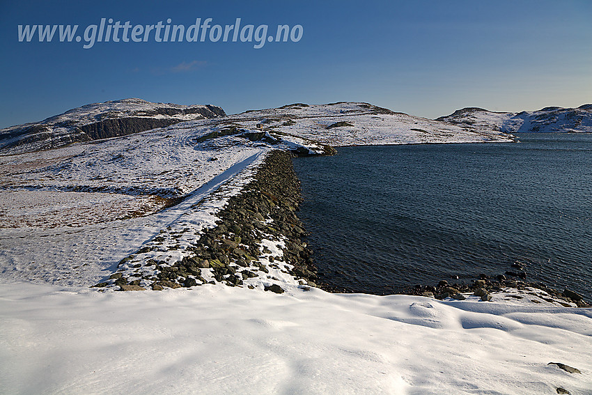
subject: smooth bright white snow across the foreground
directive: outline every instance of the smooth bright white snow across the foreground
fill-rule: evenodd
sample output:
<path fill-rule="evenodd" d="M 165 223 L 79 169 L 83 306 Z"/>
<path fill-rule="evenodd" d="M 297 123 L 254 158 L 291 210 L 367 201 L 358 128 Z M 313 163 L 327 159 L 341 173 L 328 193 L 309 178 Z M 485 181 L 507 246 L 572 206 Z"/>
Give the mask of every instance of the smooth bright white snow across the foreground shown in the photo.
<path fill-rule="evenodd" d="M 591 309 L 0 284 L 1 394 L 592 394 L 591 350 Z"/>

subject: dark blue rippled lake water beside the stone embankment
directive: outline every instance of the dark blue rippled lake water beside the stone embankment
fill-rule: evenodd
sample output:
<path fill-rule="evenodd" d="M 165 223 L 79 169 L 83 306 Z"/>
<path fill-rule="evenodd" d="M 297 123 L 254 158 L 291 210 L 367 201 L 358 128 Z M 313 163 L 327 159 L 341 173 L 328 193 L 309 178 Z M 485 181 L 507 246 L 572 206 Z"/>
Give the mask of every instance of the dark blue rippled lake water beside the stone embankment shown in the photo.
<path fill-rule="evenodd" d="M 338 148 L 294 160 L 321 278 L 386 294 L 525 265 L 592 297 L 592 134 Z"/>

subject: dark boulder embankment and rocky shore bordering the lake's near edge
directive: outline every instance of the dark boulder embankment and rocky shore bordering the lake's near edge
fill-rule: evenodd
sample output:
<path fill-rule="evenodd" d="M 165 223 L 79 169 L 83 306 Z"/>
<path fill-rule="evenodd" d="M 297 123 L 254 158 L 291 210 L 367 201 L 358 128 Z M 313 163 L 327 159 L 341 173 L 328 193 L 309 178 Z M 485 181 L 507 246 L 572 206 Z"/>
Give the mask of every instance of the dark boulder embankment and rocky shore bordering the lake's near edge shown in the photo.
<path fill-rule="evenodd" d="M 203 229 L 198 242 L 188 248 L 192 256 L 173 263 L 148 259 L 129 265 L 134 255 L 146 249 L 144 247 L 124 258 L 109 279 L 93 287 L 117 288 L 118 291 L 151 288 L 159 291 L 220 283 L 283 293 L 282 284 L 286 281 L 278 278 L 279 271 L 293 277 L 294 284 L 298 286 L 315 286 L 329 293 L 354 293 L 333 286 L 319 276 L 313 250 L 303 241 L 307 232 L 297 217 L 302 196 L 300 181 L 293 169 L 294 155 L 283 150 L 268 153 L 257 166 L 252 180 L 215 214 L 218 218 L 215 227 Z M 270 249 L 270 240 L 279 247 L 275 251 Z M 139 277 L 142 267 L 151 272 Z M 472 284 L 449 284 L 446 280 L 436 286 L 409 284 L 392 294 L 464 300 L 470 293 L 485 301 L 491 299 L 492 293 L 509 288 L 531 295 L 536 294 L 533 290 L 538 290 L 540 295 L 537 296 L 543 300 L 564 307 L 574 307 L 574 304 L 591 307 L 582 295 L 567 289 L 560 292 L 540 282 L 523 281 L 525 278 L 522 266 L 515 263 L 512 270 L 504 274 L 481 274 Z"/>

